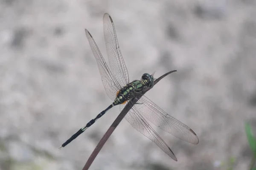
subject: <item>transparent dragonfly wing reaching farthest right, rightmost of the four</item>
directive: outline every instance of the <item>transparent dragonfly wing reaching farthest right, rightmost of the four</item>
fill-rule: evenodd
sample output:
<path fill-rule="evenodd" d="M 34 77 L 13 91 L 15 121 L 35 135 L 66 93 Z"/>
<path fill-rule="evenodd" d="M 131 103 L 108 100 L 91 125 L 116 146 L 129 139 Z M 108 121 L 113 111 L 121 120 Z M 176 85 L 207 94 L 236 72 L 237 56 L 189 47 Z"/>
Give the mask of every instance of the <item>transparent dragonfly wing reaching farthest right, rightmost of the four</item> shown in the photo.
<path fill-rule="evenodd" d="M 141 94 L 137 93 L 136 96 L 141 96 Z M 154 125 L 160 127 L 162 130 L 168 133 L 171 133 L 181 140 L 192 144 L 198 144 L 198 136 L 192 129 L 167 114 L 146 96 L 142 96 L 138 103 L 139 104 L 136 104 L 133 107 L 135 107 L 140 114 L 142 114 Z"/>

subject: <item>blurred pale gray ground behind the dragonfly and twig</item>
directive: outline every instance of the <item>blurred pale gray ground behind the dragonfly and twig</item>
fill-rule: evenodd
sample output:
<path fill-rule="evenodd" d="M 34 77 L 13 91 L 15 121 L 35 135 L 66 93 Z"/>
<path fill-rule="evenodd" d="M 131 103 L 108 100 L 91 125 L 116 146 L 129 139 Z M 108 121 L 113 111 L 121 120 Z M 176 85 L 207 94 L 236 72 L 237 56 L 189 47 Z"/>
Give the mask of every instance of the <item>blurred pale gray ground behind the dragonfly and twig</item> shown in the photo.
<path fill-rule="evenodd" d="M 244 121 L 256 118 L 255 0 L 0 0 L 0 170 L 80 170 L 120 113 L 84 33 L 107 59 L 113 18 L 130 80 L 177 70 L 146 96 L 191 127 L 199 144 L 154 127 L 173 161 L 123 120 L 92 170 L 246 170 Z"/>

